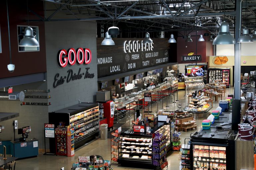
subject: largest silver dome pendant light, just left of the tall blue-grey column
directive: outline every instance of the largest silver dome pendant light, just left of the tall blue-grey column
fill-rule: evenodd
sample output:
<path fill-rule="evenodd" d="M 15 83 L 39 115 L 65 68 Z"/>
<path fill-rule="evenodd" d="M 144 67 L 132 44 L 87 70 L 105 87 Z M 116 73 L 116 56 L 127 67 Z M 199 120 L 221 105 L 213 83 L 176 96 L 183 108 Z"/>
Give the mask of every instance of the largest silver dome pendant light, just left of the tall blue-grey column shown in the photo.
<path fill-rule="evenodd" d="M 229 25 L 226 21 L 220 24 L 220 32 L 215 37 L 212 44 L 235 44 L 235 39 L 229 32 Z"/>

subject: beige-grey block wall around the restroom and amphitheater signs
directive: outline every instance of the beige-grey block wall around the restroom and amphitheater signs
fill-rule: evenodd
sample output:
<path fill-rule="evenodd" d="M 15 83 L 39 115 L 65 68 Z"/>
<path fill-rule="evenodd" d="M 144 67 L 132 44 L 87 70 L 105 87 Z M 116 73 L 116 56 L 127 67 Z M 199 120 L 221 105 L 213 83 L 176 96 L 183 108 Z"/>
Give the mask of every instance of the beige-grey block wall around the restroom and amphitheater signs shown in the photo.
<path fill-rule="evenodd" d="M 46 82 L 35 82 L 29 84 L 23 84 L 18 86 L 13 86 L 13 92 L 24 91 L 25 89 L 37 89 L 37 90 L 47 90 Z M 25 95 L 39 95 L 48 96 L 51 93 L 25 93 Z M 24 102 L 43 102 L 47 103 L 48 99 L 27 99 Z M 0 101 L 0 112 L 15 112 L 19 113 L 19 117 L 0 122 L 0 125 L 4 127 L 2 133 L 0 133 L 0 141 L 5 139 L 11 139 L 13 141 L 14 133 L 12 122 L 14 120 L 18 121 L 18 128 L 30 126 L 31 132 L 28 134 L 28 139 L 37 138 L 38 147 L 44 148 L 44 123 L 48 123 L 48 106 L 21 106 L 21 101 Z M 18 135 L 18 130 L 15 130 L 15 138 L 22 137 L 21 134 Z M 47 142 L 48 140 L 46 140 Z M 48 143 L 47 143 L 48 144 Z"/>

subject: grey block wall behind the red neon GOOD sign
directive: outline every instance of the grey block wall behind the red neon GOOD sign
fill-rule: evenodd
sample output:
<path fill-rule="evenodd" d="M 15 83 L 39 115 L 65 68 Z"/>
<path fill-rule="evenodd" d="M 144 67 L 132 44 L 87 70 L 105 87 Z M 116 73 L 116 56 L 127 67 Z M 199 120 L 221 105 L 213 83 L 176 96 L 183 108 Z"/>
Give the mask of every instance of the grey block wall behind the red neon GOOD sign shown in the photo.
<path fill-rule="evenodd" d="M 45 23 L 46 42 L 46 62 L 47 62 L 47 85 L 51 90 L 52 98 L 49 99 L 51 105 L 49 112 L 53 112 L 65 107 L 81 102 L 95 102 L 97 92 L 97 47 L 96 47 L 96 22 L 76 21 L 76 22 L 46 22 Z M 89 48 L 92 52 L 90 64 L 73 66 L 67 65 L 62 68 L 57 63 L 58 51 L 69 48 Z M 85 73 L 87 67 L 89 73 L 94 73 L 94 78 L 86 78 L 70 81 L 69 83 L 53 87 L 54 76 L 67 76 L 67 70 L 72 69 L 73 74 Z"/>

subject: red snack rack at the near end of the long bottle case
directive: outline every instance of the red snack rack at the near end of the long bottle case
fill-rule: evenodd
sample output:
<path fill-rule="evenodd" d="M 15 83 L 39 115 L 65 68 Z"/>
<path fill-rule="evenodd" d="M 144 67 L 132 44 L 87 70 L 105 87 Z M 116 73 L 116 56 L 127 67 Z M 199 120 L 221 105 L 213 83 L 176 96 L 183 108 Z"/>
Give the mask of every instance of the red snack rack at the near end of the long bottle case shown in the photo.
<path fill-rule="evenodd" d="M 56 140 L 56 156 L 67 156 L 67 128 L 65 126 L 58 126 L 55 128 Z"/>

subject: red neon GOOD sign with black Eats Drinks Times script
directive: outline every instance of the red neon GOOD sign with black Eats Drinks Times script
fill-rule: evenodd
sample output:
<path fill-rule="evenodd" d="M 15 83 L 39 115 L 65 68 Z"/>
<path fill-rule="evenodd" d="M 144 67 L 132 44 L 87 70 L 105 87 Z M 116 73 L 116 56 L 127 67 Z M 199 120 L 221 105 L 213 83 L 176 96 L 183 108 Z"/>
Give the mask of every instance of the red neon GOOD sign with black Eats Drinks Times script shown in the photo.
<path fill-rule="evenodd" d="M 58 64 L 60 67 L 64 68 L 68 64 L 74 65 L 77 64 L 90 64 L 92 60 L 92 53 L 89 48 L 69 48 L 68 50 L 62 49 L 58 52 L 57 56 Z M 60 75 L 60 73 L 56 73 L 54 76 L 53 87 L 64 84 L 64 82 L 69 83 L 70 81 L 75 81 L 79 79 L 86 78 L 94 78 L 94 73 L 89 72 L 89 67 L 85 69 L 79 68 L 77 72 L 73 71 L 73 69 L 67 70 L 66 75 Z"/>

